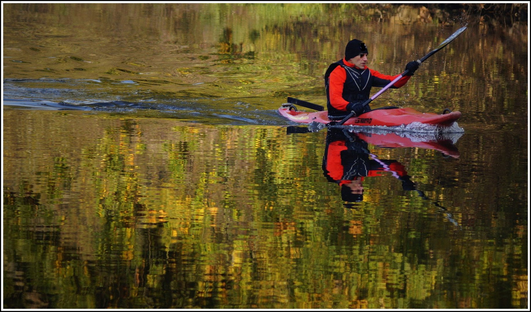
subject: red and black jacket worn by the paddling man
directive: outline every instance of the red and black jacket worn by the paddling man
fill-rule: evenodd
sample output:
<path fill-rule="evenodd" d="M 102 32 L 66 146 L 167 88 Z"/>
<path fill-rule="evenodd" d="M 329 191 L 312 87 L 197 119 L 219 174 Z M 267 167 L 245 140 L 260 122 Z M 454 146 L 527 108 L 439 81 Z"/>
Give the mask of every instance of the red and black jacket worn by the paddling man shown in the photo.
<path fill-rule="evenodd" d="M 399 74 L 400 75 L 400 74 Z M 324 74 L 324 87 L 327 92 L 328 114 L 345 115 L 350 102 L 369 100 L 371 88 L 387 86 L 399 75 L 383 75 L 374 69 L 360 69 L 342 59 L 331 64 Z M 399 88 L 407 83 L 411 76 L 404 76 L 391 86 Z"/>

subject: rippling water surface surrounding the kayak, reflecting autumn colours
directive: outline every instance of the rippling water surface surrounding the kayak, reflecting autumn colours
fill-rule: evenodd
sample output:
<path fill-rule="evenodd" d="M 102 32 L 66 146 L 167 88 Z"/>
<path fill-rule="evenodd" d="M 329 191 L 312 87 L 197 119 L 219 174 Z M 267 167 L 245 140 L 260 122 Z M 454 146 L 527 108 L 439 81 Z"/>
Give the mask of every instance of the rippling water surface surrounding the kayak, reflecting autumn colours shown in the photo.
<path fill-rule="evenodd" d="M 3 307 L 527 308 L 527 23 L 469 24 L 372 103 L 464 133 L 276 112 L 324 105 L 350 39 L 398 74 L 467 23 L 418 10 L 4 4 Z M 341 139 L 359 202 L 323 170 Z"/>

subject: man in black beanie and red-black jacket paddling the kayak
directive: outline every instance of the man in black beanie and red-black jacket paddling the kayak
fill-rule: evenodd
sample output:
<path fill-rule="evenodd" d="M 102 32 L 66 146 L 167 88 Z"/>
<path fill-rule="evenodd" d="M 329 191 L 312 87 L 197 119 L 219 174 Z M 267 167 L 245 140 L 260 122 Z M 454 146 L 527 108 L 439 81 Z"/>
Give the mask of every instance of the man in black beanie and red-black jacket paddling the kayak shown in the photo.
<path fill-rule="evenodd" d="M 358 116 L 371 108 L 363 103 L 369 100 L 371 87 L 387 86 L 396 76 L 383 75 L 366 66 L 369 51 L 365 43 L 358 39 L 350 40 L 345 48 L 345 58 L 331 64 L 324 74 L 327 92 L 327 109 L 330 120 L 345 118 L 350 112 Z M 406 76 L 391 86 L 399 88 L 407 83 L 418 69 L 416 61 L 406 65 Z"/>

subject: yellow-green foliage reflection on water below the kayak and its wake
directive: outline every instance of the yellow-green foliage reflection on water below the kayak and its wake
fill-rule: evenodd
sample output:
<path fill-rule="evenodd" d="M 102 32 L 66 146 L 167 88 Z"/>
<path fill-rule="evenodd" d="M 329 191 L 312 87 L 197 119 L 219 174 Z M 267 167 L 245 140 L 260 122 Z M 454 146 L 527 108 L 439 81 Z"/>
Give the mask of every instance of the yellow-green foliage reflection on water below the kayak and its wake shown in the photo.
<path fill-rule="evenodd" d="M 322 175 L 326 133 L 4 113 L 4 307 L 524 305 L 525 207 L 467 197 L 467 170 L 446 186 L 455 164 L 430 150 L 373 147 L 463 228 L 390 176 L 343 208 Z"/>

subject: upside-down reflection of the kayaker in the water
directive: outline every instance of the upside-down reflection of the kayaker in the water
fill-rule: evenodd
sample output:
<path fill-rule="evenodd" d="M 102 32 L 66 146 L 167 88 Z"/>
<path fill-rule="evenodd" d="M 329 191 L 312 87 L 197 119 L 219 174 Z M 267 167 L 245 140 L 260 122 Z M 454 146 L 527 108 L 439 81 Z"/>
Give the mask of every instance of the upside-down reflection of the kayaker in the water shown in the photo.
<path fill-rule="evenodd" d="M 347 129 L 329 128 L 323 157 L 323 173 L 330 182 L 341 186 L 341 198 L 347 202 L 363 200 L 363 180 L 392 172 L 402 181 L 402 188 L 415 190 L 414 183 L 402 164 L 394 160 L 369 158 L 367 142 Z M 374 156 L 374 155 L 373 155 Z"/>

